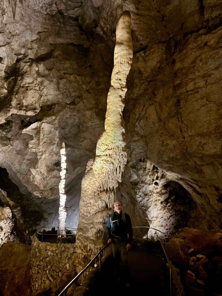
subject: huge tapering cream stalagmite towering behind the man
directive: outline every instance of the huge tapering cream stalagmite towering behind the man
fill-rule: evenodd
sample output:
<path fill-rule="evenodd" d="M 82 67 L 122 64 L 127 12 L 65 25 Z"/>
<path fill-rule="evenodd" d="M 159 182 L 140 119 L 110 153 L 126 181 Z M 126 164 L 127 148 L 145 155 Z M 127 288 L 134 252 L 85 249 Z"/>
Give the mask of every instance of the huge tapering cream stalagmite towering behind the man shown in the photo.
<path fill-rule="evenodd" d="M 114 67 L 107 96 L 105 131 L 97 142 L 96 157 L 87 163 L 82 180 L 76 236 L 79 271 L 104 245 L 107 217 L 112 212 L 115 188 L 118 181 L 122 180 L 126 164 L 123 108 L 127 91 L 126 77 L 132 58 L 131 15 L 130 12 L 124 11 L 116 28 Z"/>

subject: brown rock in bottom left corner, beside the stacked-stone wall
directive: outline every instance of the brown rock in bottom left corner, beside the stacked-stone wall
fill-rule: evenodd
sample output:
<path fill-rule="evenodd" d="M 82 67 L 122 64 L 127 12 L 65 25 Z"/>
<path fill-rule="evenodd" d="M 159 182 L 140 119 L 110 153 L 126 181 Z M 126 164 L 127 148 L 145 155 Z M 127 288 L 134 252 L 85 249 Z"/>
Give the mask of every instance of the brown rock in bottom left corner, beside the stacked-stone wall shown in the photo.
<path fill-rule="evenodd" d="M 8 242 L 0 248 L 0 292 L 4 296 L 29 296 L 30 246 Z"/>

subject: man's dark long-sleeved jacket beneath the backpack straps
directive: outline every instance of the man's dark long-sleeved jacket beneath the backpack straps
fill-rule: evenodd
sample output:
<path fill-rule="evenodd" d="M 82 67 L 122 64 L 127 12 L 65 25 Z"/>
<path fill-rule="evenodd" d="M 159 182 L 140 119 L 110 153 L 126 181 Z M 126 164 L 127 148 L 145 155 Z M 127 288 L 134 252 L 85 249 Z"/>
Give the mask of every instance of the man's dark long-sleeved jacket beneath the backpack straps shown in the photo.
<path fill-rule="evenodd" d="M 111 223 L 110 223 L 111 215 L 109 215 L 107 219 L 106 225 L 106 233 L 109 239 L 120 237 L 120 241 L 126 241 L 128 244 L 132 244 L 133 241 L 133 229 L 130 220 L 130 216 L 125 213 L 126 223 L 122 219 L 122 211 L 118 214 L 114 212 L 112 221 L 118 220 L 116 222 L 112 222 L 112 232 L 111 232 Z M 129 238 L 127 237 L 129 234 Z"/>

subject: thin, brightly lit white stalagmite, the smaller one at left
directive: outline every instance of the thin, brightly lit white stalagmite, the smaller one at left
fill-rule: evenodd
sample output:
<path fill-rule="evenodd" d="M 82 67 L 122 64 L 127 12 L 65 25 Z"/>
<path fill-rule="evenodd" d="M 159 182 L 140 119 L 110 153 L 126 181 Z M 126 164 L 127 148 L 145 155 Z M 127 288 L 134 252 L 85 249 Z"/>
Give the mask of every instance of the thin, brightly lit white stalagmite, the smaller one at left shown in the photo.
<path fill-rule="evenodd" d="M 65 220 L 66 220 L 66 208 L 65 208 L 65 173 L 66 173 L 66 154 L 65 154 L 65 144 L 62 143 L 62 147 L 60 149 L 61 155 L 61 170 L 60 170 L 60 183 L 59 183 L 59 231 L 58 234 L 65 235 Z"/>

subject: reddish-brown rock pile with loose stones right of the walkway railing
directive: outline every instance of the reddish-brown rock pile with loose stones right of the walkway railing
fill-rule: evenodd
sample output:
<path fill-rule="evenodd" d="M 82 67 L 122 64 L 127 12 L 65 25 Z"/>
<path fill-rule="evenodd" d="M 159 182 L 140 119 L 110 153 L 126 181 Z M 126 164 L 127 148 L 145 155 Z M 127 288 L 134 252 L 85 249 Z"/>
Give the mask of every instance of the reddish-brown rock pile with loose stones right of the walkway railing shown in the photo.
<path fill-rule="evenodd" d="M 222 231 L 183 228 L 174 235 L 167 252 L 180 269 L 186 295 L 222 295 Z"/>

